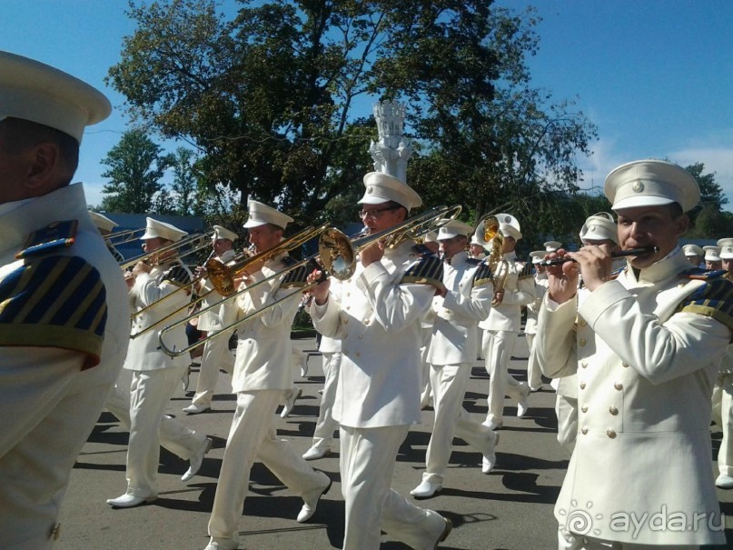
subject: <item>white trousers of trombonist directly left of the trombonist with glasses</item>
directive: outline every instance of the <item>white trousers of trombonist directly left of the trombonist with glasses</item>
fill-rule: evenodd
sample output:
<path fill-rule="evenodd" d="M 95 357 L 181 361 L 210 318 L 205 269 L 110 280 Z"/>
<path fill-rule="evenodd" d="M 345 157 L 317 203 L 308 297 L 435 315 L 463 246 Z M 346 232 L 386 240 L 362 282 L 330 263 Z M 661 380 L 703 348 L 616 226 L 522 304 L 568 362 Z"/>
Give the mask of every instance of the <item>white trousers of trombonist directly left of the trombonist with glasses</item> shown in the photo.
<path fill-rule="evenodd" d="M 283 390 L 237 394 L 237 408 L 226 441 L 209 520 L 212 542 L 225 548 L 239 542 L 239 518 L 255 458 L 295 495 L 308 495 L 323 489 L 324 475 L 313 470 L 290 442 L 277 439 L 272 422 L 283 394 Z"/>

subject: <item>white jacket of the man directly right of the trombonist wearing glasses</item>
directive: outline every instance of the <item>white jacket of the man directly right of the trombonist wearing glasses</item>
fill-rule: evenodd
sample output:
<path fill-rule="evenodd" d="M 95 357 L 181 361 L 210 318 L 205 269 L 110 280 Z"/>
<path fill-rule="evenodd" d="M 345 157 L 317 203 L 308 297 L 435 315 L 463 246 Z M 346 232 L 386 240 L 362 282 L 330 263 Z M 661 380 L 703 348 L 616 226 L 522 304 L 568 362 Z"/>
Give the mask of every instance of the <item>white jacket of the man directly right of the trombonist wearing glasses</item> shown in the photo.
<path fill-rule="evenodd" d="M 479 337 L 476 326 L 489 315 L 494 285 L 488 265 L 469 259 L 465 252 L 443 265 L 446 295 L 432 299 L 436 315 L 432 325 L 428 363 L 459 365 L 476 360 Z"/>

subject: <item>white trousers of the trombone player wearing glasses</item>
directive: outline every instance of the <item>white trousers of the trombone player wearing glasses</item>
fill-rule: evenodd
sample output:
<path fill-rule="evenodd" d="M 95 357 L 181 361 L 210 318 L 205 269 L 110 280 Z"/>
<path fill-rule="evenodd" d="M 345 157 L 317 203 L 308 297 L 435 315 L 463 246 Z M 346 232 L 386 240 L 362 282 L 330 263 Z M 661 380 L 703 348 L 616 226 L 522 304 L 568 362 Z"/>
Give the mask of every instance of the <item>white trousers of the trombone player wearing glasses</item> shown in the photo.
<path fill-rule="evenodd" d="M 412 548 L 427 548 L 445 528 L 441 515 L 390 488 L 397 452 L 409 430 L 409 425 L 342 425 L 343 550 L 378 550 L 381 530 Z"/>

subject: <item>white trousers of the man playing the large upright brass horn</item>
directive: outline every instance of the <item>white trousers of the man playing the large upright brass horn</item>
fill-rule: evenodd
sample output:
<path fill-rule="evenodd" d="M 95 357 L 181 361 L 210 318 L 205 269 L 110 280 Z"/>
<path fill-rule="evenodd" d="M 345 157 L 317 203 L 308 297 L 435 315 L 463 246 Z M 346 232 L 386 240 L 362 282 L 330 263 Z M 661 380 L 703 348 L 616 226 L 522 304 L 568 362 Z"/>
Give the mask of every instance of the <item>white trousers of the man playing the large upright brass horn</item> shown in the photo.
<path fill-rule="evenodd" d="M 520 384 L 509 374 L 509 362 L 517 333 L 507 330 L 485 330 L 483 333 L 483 355 L 486 357 L 486 372 L 489 373 L 489 412 L 487 421 L 502 422 L 504 418 L 504 395 L 520 401 L 529 388 Z"/>

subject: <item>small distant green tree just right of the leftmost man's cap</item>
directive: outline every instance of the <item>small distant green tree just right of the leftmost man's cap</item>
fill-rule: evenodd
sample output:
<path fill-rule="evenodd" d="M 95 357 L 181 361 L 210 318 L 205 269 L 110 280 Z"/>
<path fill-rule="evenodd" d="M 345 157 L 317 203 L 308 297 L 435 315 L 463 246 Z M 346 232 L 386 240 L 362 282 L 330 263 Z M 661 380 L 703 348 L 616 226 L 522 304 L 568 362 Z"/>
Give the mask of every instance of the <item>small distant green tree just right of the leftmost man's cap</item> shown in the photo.
<path fill-rule="evenodd" d="M 163 155 L 144 131 L 125 132 L 117 145 L 102 159 L 109 166 L 102 176 L 110 183 L 103 187 L 100 209 L 131 214 L 160 213 L 171 209 L 171 199 L 162 183 L 171 158 Z"/>

